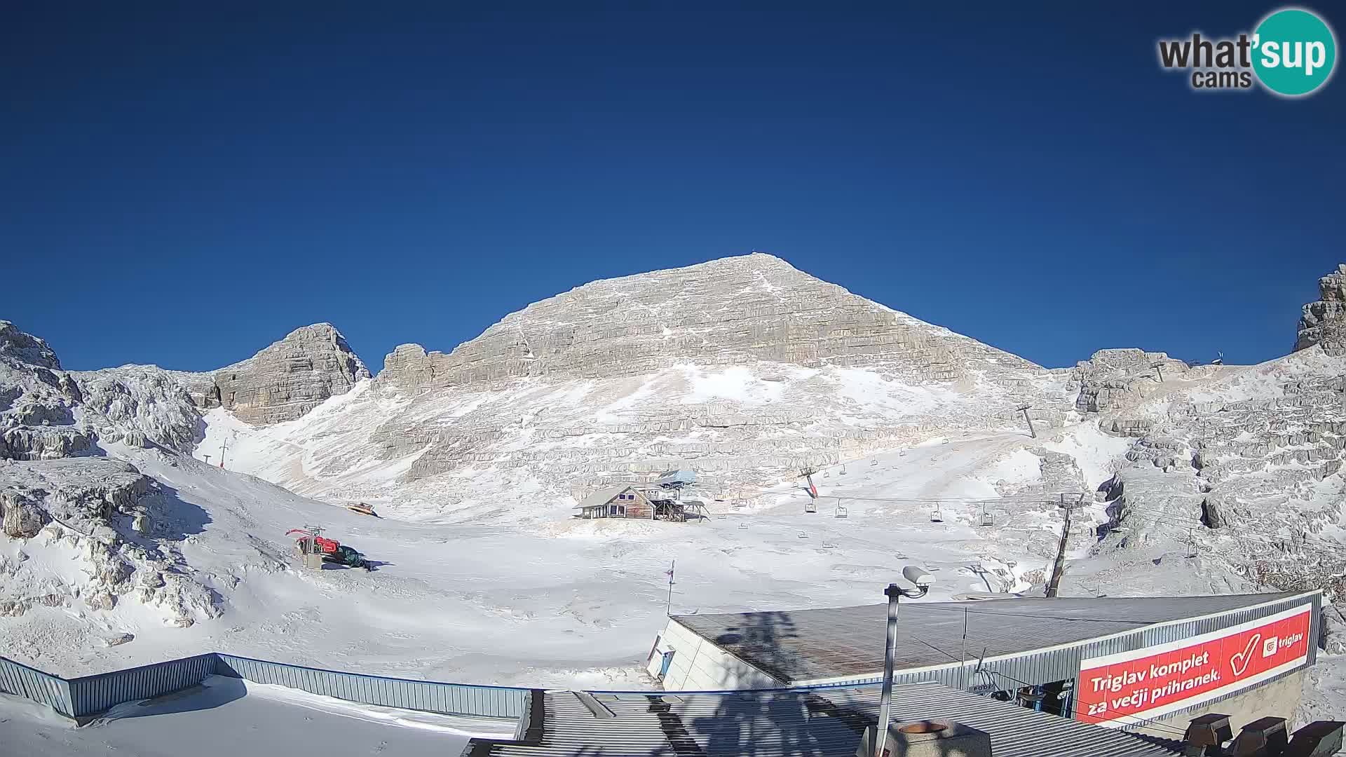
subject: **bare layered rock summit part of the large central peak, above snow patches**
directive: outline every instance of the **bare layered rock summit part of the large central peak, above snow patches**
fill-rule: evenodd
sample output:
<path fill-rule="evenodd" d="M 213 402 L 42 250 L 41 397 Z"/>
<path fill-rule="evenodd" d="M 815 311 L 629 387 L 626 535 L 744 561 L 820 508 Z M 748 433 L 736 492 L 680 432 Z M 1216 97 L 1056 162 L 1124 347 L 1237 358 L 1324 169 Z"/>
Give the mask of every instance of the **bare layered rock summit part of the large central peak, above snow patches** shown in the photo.
<path fill-rule="evenodd" d="M 402 345 L 378 380 L 425 391 L 639 376 L 678 361 L 865 366 L 919 381 L 1038 368 L 754 253 L 584 284 L 506 315 L 448 354 Z"/>

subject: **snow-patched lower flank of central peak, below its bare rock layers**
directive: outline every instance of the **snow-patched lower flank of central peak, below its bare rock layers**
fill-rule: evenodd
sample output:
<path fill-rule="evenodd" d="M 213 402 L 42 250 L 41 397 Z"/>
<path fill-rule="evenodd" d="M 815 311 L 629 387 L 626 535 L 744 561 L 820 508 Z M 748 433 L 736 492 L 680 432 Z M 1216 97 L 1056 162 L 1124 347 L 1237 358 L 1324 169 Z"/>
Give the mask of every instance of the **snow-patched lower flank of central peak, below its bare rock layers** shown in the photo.
<path fill-rule="evenodd" d="M 1035 383 L 1065 401 L 1063 377 Z M 681 364 L 637 377 L 520 378 L 421 395 L 376 380 L 273 426 L 211 409 L 195 454 L 214 462 L 225 454 L 230 469 L 404 520 L 553 521 L 594 488 L 670 467 L 695 467 L 715 498 L 751 498 L 804 465 L 914 445 L 945 428 L 1011 431 L 1022 420 L 988 423 L 984 408 L 1016 392 L 781 364 Z M 451 457 L 431 466 L 444 447 Z"/>

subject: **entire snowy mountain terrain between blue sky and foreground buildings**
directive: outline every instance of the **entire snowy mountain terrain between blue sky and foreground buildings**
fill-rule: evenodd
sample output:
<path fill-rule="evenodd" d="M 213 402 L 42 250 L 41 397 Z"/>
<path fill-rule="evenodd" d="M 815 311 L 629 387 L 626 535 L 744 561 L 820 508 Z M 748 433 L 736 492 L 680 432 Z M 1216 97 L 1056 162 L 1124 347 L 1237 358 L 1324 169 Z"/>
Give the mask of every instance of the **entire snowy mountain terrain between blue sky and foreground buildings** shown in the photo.
<path fill-rule="evenodd" d="M 1341 277 L 1257 366 L 1046 369 L 766 255 L 586 284 L 377 377 L 330 323 L 186 373 L 65 372 L 0 322 L 3 653 L 639 684 L 673 559 L 684 612 L 875 602 L 907 562 L 933 599 L 1023 591 L 1067 493 L 1063 594 L 1335 593 Z M 670 467 L 709 523 L 571 519 Z M 302 571 L 306 524 L 377 571 Z"/>

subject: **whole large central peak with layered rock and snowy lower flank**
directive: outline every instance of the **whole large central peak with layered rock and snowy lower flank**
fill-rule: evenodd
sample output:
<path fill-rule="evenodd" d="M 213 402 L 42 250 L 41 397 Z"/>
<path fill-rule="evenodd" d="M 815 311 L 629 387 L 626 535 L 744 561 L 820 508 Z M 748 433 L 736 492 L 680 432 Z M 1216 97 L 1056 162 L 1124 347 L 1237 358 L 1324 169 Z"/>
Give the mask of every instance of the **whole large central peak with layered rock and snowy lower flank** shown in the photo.
<path fill-rule="evenodd" d="M 386 480 L 342 480 L 373 465 L 447 509 L 472 494 L 444 475 L 537 498 L 680 466 L 759 488 L 940 430 L 1018 431 L 1024 404 L 1059 427 L 1065 380 L 754 253 L 584 284 L 448 354 L 401 345 L 320 423 L 312 475 L 277 482 L 381 498 Z"/>

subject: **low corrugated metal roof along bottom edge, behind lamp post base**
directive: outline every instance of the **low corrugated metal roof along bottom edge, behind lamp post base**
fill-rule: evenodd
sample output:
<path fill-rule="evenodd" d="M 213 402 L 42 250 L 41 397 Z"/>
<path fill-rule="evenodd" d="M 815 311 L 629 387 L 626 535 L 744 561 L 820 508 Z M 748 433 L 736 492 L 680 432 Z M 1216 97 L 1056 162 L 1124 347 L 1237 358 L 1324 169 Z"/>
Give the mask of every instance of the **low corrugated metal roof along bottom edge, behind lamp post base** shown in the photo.
<path fill-rule="evenodd" d="M 602 696 L 616 717 L 595 718 L 573 692 L 548 692 L 536 744 L 474 739 L 485 757 L 853 757 L 878 722 L 879 690 L 742 691 Z M 894 721 L 950 718 L 991 734 L 996 757 L 1168 757 L 1175 742 L 1035 713 L 926 683 L 892 690 Z"/>

